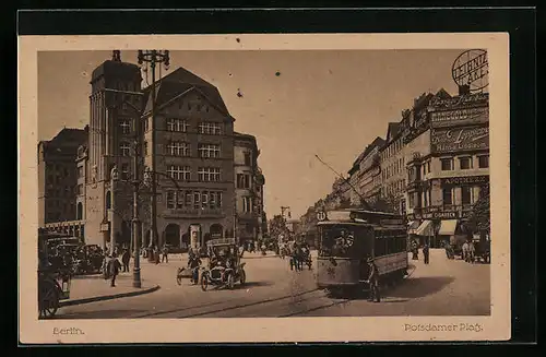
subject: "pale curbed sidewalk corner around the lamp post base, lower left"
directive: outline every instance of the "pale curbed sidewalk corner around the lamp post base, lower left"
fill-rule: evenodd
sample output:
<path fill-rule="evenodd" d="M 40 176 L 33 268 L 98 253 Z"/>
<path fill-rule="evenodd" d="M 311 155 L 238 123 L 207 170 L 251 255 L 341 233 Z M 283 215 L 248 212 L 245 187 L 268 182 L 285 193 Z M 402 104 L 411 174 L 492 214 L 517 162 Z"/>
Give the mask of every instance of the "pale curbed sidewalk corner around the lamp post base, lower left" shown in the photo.
<path fill-rule="evenodd" d="M 159 285 L 142 279 L 142 287 L 132 286 L 131 273 L 122 273 L 116 278 L 116 287 L 110 286 L 110 281 L 105 281 L 103 275 L 78 276 L 72 278 L 70 299 L 61 300 L 59 306 L 73 306 L 103 300 L 111 300 L 130 296 L 150 294 L 159 289 Z"/>

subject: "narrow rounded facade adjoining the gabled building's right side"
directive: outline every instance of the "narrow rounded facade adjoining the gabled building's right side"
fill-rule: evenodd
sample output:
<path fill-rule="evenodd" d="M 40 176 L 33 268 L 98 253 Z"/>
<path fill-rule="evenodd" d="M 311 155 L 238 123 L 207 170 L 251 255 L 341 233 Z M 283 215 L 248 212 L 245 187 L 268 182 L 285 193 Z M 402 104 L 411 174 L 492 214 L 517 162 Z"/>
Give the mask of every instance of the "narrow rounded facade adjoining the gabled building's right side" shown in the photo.
<path fill-rule="evenodd" d="M 260 151 L 256 138 L 234 134 L 234 172 L 237 236 L 241 240 L 262 240 L 264 176 L 258 166 Z"/>

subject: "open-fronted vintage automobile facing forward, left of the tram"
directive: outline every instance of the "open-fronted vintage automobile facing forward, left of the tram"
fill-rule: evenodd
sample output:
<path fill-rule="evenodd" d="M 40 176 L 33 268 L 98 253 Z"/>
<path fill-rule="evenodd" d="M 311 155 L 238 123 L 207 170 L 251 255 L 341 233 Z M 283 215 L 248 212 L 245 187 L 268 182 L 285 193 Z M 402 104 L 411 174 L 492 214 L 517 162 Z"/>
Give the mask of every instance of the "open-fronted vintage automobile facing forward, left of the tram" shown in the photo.
<path fill-rule="evenodd" d="M 235 283 L 245 284 L 247 275 L 245 264 L 240 262 L 238 245 L 235 238 L 212 239 L 206 242 L 209 269 L 201 276 L 201 288 L 206 290 L 209 285 L 233 289 Z"/>

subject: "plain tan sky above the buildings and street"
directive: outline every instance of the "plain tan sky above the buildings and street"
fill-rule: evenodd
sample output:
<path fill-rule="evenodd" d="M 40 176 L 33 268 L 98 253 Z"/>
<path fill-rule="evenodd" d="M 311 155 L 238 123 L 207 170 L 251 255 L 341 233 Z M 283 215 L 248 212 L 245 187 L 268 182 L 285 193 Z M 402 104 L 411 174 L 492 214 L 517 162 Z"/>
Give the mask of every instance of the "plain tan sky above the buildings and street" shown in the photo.
<path fill-rule="evenodd" d="M 171 51 L 162 76 L 183 67 L 218 88 L 235 130 L 257 138 L 268 217 L 281 206 L 299 217 L 336 178 L 314 155 L 346 176 L 414 98 L 441 87 L 456 94 L 451 66 L 463 50 Z M 39 52 L 38 140 L 88 123 L 91 73 L 110 58 L 110 51 Z M 135 63 L 136 51 L 121 51 L 121 60 Z"/>

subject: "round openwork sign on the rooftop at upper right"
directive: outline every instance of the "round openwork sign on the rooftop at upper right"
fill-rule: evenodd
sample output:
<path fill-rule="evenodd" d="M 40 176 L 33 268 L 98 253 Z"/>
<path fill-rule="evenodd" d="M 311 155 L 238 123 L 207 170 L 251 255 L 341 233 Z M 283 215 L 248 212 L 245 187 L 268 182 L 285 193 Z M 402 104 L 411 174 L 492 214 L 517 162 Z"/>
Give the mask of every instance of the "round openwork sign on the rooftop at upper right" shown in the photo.
<path fill-rule="evenodd" d="M 451 75 L 456 85 L 468 85 L 472 92 L 485 88 L 488 82 L 489 61 L 484 49 L 462 52 L 451 67 Z"/>

